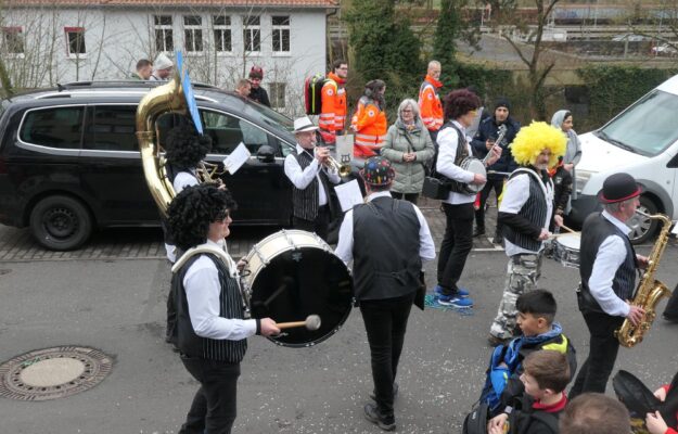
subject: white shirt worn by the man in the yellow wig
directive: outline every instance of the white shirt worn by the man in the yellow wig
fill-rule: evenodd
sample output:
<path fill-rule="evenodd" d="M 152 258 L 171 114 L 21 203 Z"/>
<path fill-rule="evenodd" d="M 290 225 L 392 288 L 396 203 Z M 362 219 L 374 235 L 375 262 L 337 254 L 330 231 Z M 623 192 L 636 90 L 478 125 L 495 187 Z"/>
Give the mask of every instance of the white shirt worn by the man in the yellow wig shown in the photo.
<path fill-rule="evenodd" d="M 517 214 L 523 205 L 529 199 L 529 177 L 532 175 L 528 174 L 520 174 L 509 179 L 509 182 L 503 188 L 503 196 L 501 199 L 501 204 L 499 205 L 500 213 L 510 213 Z M 537 174 L 538 176 L 538 174 Z M 551 183 L 543 184 L 543 182 L 539 182 L 539 187 L 541 187 L 541 191 L 543 192 L 543 197 L 546 199 L 546 219 L 543 225 L 541 225 L 542 229 L 549 230 L 549 224 L 551 222 L 551 213 L 553 213 L 553 188 Z M 504 251 L 507 256 L 514 256 L 521 253 L 526 254 L 535 254 L 541 252 L 543 248 L 543 243 L 539 246 L 538 252 L 529 251 L 527 248 L 523 248 L 510 242 L 509 240 L 503 239 L 504 242 Z"/>

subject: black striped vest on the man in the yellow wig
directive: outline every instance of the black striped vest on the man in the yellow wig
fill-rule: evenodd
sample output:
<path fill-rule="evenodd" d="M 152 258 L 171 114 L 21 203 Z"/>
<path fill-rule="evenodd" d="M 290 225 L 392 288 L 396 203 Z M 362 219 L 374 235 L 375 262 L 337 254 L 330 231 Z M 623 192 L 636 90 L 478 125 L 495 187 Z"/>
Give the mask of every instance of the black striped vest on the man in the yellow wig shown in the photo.
<path fill-rule="evenodd" d="M 520 168 L 514 170 L 509 179 L 522 174 L 526 174 L 527 178 L 529 179 L 529 197 L 527 199 L 527 202 L 523 204 L 521 210 L 517 212 L 517 215 L 524 217 L 530 224 L 539 228 L 543 228 L 543 222 L 546 221 L 548 212 L 546 194 L 543 193 L 543 191 L 547 189 L 547 186 L 543 183 L 542 179 L 538 179 L 533 174 L 521 170 Z M 553 183 L 550 179 L 548 182 L 552 189 Z M 543 189 L 541 188 L 541 186 L 543 186 Z M 519 247 L 523 247 L 535 253 L 539 252 L 539 250 L 541 248 L 541 240 L 534 239 L 525 233 L 520 233 L 511 228 L 511 226 L 509 225 L 503 226 L 503 234 L 507 240 L 517 245 Z"/>

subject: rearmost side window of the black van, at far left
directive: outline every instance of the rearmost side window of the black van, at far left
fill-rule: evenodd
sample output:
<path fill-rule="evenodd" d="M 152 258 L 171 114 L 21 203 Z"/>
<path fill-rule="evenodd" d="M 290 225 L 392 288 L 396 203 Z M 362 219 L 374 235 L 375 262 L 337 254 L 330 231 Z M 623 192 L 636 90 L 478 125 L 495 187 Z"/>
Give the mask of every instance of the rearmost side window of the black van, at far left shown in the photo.
<path fill-rule="evenodd" d="M 34 110 L 26 114 L 18 138 L 26 143 L 80 149 L 85 107 Z"/>

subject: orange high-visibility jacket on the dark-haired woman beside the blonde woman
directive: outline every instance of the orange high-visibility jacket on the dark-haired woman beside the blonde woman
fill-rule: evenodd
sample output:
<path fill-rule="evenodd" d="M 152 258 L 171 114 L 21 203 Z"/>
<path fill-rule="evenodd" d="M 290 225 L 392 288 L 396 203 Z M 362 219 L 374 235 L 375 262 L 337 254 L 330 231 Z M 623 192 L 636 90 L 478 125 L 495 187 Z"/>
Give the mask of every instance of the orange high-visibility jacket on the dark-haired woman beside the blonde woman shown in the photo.
<path fill-rule="evenodd" d="M 388 129 L 386 113 L 380 108 L 376 101 L 364 95 L 360 97 L 350 126 L 356 131 L 354 156 L 369 158 L 376 155 L 376 151 L 384 144 Z"/>

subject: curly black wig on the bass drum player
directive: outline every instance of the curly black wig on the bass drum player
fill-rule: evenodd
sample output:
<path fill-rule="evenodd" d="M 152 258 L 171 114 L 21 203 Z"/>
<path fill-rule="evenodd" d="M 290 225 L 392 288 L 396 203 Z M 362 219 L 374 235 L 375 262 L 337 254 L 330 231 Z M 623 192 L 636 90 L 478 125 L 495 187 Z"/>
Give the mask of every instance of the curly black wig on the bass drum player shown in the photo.
<path fill-rule="evenodd" d="M 175 243 L 187 251 L 207 241 L 209 224 L 225 218 L 238 205 L 231 192 L 214 184 L 187 187 L 167 208 L 167 221 Z"/>

